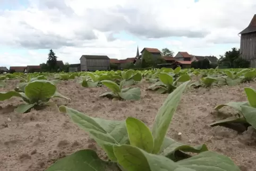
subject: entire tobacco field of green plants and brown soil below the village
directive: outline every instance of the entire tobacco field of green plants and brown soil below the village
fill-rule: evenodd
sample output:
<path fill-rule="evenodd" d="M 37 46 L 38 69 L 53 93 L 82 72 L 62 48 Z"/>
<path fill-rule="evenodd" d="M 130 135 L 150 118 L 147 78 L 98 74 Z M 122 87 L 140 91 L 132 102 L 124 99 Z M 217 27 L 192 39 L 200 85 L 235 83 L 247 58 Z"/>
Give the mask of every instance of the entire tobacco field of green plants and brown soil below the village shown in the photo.
<path fill-rule="evenodd" d="M 255 171 L 256 70 L 0 75 L 0 170 Z"/>

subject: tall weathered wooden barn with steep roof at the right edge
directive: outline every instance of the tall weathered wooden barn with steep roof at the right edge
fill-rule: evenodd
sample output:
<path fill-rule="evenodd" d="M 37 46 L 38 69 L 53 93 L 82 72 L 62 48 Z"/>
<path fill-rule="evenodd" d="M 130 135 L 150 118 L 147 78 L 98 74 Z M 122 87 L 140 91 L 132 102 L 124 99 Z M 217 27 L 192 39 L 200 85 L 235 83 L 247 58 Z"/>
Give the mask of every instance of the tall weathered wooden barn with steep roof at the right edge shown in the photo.
<path fill-rule="evenodd" d="M 256 14 L 246 29 L 241 31 L 240 54 L 256 67 Z"/>

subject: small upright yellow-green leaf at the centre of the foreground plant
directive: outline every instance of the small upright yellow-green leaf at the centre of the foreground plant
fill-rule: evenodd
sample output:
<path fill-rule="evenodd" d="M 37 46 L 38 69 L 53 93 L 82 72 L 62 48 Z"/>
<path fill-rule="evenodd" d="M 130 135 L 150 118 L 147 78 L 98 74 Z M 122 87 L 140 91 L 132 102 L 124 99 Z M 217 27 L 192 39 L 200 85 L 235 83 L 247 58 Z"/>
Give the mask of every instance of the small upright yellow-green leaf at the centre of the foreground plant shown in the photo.
<path fill-rule="evenodd" d="M 149 153 L 153 150 L 153 136 L 147 125 L 139 119 L 128 117 L 126 119 L 126 129 L 132 146 L 139 147 Z"/>

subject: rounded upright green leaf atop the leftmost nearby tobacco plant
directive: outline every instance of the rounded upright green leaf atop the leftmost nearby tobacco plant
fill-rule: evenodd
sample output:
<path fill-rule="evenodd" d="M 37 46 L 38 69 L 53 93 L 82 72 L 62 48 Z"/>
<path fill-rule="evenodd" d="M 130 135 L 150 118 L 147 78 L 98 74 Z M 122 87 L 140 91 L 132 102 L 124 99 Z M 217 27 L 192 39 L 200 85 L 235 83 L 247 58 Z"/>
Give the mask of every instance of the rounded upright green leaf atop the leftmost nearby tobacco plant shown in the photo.
<path fill-rule="evenodd" d="M 36 80 L 30 82 L 25 87 L 25 95 L 30 99 L 31 102 L 49 99 L 54 95 L 55 91 L 55 84 L 47 80 Z"/>

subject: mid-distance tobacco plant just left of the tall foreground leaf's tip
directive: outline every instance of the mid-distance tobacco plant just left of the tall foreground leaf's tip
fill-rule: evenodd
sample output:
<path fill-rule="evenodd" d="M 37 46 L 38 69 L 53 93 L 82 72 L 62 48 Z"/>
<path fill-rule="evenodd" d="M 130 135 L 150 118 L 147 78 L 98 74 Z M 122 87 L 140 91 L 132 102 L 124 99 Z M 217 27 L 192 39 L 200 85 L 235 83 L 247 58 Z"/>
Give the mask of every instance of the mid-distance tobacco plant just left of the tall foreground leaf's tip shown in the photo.
<path fill-rule="evenodd" d="M 139 100 L 141 91 L 140 88 L 123 88 L 123 84 L 125 80 L 120 82 L 118 86 L 117 83 L 104 80 L 101 81 L 107 88 L 111 90 L 111 92 L 105 92 L 99 97 L 108 97 L 108 98 L 115 98 L 115 99 L 124 99 L 124 100 Z"/>

